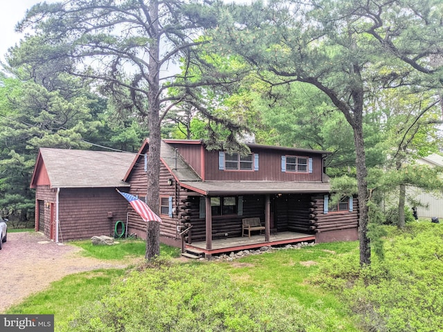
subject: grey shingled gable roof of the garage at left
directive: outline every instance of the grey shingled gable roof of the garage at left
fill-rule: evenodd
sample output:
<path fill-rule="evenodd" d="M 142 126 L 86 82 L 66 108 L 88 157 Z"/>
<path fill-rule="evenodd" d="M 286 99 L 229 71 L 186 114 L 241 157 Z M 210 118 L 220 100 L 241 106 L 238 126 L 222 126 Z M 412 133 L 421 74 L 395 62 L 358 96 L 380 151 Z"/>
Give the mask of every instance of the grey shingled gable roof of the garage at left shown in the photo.
<path fill-rule="evenodd" d="M 129 187 L 123 177 L 135 156 L 127 152 L 41 148 L 31 187 L 42 184 L 41 176 L 51 187 Z"/>

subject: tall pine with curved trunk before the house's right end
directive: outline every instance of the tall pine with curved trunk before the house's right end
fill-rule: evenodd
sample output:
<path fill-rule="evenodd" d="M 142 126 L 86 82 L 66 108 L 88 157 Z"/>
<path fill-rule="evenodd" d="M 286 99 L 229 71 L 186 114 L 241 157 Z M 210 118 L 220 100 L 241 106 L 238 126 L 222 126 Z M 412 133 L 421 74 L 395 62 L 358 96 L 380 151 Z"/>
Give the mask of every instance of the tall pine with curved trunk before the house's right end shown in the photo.
<path fill-rule="evenodd" d="M 370 264 L 363 118 L 370 82 L 441 89 L 443 4 L 438 0 L 270 0 L 232 5 L 213 32 L 217 52 L 242 55 L 274 84 L 305 82 L 352 127 L 359 192 L 360 264 Z"/>

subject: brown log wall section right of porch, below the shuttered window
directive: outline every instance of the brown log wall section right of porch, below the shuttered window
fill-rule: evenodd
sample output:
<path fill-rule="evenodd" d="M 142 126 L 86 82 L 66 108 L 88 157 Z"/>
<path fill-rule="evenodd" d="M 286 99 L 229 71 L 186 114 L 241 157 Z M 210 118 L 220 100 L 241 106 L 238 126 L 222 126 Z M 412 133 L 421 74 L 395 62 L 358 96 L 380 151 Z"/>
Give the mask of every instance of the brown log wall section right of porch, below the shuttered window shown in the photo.
<path fill-rule="evenodd" d="M 359 223 L 359 200 L 354 197 L 352 200 L 352 212 L 328 212 L 323 211 L 324 195 L 314 197 L 314 208 L 316 213 L 317 232 L 327 232 L 332 230 L 345 230 L 349 228 L 357 228 Z"/>

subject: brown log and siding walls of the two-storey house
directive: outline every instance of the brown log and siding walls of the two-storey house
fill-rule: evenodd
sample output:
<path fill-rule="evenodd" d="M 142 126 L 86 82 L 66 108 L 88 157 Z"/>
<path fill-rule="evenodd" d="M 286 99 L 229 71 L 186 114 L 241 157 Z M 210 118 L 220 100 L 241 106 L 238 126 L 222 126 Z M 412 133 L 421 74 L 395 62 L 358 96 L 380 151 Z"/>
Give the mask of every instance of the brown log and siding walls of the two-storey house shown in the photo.
<path fill-rule="evenodd" d="M 312 158 L 312 173 L 282 172 L 282 155 L 291 156 L 287 150 L 255 149 L 259 154 L 258 171 L 223 171 L 219 170 L 218 151 L 206 151 L 200 144 L 174 144 L 179 154 L 197 174 L 205 181 L 322 181 L 322 154 L 300 154 Z M 147 151 L 139 151 L 145 154 Z M 147 174 L 143 156 L 139 156 L 127 182 L 131 183 L 129 192 L 144 199 L 147 192 Z M 169 184 L 168 180 L 172 183 Z M 174 214 L 157 212 L 163 223 L 160 225 L 160 240 L 173 246 L 181 245 L 182 230 L 192 226 L 190 231 L 183 234 L 187 243 L 206 241 L 206 218 L 200 209 L 204 206 L 201 199 L 204 196 L 197 192 L 188 192 L 175 181 L 170 169 L 163 163 L 160 169 L 159 181 L 160 198 L 172 198 Z M 242 213 L 224 216 L 213 215 L 212 239 L 242 236 L 242 219 L 259 217 L 264 223 L 264 194 L 236 196 L 242 199 Z M 283 194 L 271 195 L 271 232 L 302 232 L 316 234 L 319 241 L 334 239 L 353 239 L 358 223 L 358 201 L 354 199 L 354 212 L 323 213 L 323 194 Z M 129 206 L 129 205 L 128 205 Z M 129 206 L 129 234 L 137 234 L 146 238 L 146 224 Z M 321 235 L 318 235 L 321 234 Z"/>

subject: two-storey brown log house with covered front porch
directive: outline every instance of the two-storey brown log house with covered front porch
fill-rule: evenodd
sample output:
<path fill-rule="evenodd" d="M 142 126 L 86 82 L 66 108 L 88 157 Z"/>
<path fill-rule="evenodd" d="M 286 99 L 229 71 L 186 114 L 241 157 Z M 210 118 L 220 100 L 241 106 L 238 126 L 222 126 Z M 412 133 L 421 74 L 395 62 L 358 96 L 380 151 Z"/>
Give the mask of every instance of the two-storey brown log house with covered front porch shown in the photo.
<path fill-rule="evenodd" d="M 201 140 L 163 140 L 160 237 L 183 251 L 220 252 L 300 241 L 358 239 L 358 201 L 329 206 L 327 151 L 247 144 L 248 156 L 208 151 Z M 147 190 L 145 140 L 123 178 L 129 192 Z M 262 230 L 244 233 L 245 220 Z M 145 238 L 145 223 L 129 211 L 128 232 Z"/>

